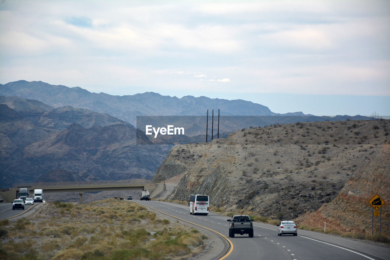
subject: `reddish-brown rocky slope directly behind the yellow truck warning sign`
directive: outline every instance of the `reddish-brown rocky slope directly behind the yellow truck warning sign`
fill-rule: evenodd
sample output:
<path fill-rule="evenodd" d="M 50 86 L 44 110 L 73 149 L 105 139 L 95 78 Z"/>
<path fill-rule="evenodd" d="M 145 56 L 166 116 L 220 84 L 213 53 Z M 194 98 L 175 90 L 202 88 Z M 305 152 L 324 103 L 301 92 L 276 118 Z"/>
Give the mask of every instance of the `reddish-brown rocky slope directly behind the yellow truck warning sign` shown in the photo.
<path fill-rule="evenodd" d="M 382 212 L 382 233 L 390 234 L 390 140 L 368 164 L 349 179 L 330 203 L 316 212 L 307 212 L 298 221 L 312 227 L 336 228 L 342 232 L 372 233 L 370 199 L 378 194 L 385 204 Z M 359 224 L 356 224 L 359 223 Z M 374 216 L 374 232 L 379 232 L 379 217 Z"/>

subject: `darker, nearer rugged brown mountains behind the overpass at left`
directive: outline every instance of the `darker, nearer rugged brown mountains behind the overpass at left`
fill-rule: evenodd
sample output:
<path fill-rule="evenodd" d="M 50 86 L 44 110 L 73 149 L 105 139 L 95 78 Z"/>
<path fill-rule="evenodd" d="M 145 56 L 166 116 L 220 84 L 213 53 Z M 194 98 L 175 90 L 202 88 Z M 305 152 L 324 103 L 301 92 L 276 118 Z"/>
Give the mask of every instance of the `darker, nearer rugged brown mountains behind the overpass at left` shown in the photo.
<path fill-rule="evenodd" d="M 0 188 L 49 180 L 151 179 L 171 147 L 152 145 L 140 130 L 107 114 L 0 97 Z M 56 174 L 63 171 L 71 175 Z"/>

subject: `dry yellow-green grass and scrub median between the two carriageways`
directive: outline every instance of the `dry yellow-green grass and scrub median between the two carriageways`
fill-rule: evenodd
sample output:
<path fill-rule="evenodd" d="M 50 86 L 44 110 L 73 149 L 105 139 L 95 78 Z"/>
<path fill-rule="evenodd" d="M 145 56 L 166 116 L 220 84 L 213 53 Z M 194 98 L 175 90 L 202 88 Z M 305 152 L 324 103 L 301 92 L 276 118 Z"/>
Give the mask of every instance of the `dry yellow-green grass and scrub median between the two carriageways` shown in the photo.
<path fill-rule="evenodd" d="M 206 236 L 129 201 L 45 203 L 27 219 L 0 223 L 0 259 L 183 259 Z"/>

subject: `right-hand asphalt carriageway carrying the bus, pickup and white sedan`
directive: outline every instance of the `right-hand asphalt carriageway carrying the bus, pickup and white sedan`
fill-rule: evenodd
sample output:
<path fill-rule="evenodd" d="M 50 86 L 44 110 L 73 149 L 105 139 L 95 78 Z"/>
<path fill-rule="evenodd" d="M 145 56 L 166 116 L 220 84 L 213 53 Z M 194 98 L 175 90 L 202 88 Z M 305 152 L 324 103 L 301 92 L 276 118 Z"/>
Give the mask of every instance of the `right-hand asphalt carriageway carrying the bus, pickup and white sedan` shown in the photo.
<path fill-rule="evenodd" d="M 224 259 L 390 259 L 390 249 L 375 243 L 353 240 L 307 230 L 298 230 L 298 236 L 277 235 L 277 226 L 254 223 L 254 238 L 248 235 L 228 237 L 229 217 L 211 213 L 190 215 L 188 207 L 163 201 L 135 201 L 185 221 L 204 226 L 224 235 L 233 244 L 233 250 Z M 216 259 L 216 258 L 212 258 Z"/>

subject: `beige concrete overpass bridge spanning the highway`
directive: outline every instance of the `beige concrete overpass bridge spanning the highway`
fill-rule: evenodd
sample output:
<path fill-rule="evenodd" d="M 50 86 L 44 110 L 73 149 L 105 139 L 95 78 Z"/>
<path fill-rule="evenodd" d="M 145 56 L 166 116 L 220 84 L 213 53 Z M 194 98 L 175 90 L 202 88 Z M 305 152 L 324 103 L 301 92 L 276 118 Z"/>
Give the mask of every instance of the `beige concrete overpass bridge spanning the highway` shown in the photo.
<path fill-rule="evenodd" d="M 149 180 L 105 180 L 90 182 L 35 182 L 17 183 L 9 191 L 1 191 L 0 195 L 7 202 L 12 202 L 19 196 L 20 188 L 28 188 L 30 197 L 34 189 L 43 189 L 43 194 L 50 192 L 78 192 L 80 194 L 80 204 L 83 203 L 83 192 L 86 191 L 124 191 L 124 190 L 147 190 L 153 191 L 157 184 L 149 183 Z"/>

